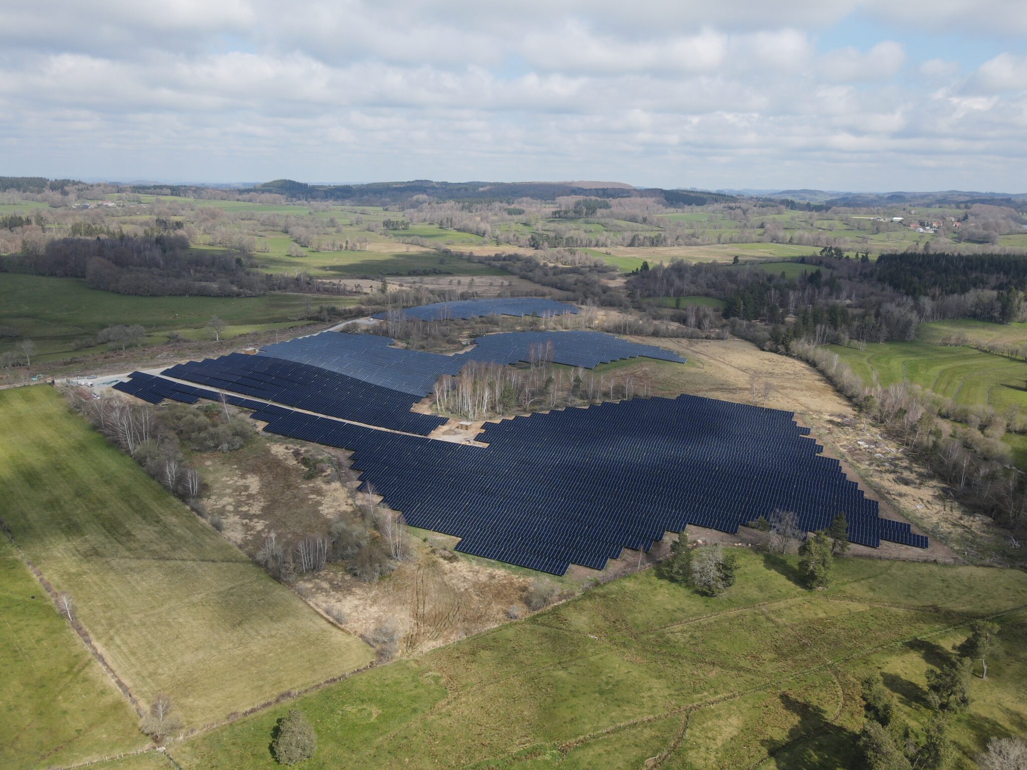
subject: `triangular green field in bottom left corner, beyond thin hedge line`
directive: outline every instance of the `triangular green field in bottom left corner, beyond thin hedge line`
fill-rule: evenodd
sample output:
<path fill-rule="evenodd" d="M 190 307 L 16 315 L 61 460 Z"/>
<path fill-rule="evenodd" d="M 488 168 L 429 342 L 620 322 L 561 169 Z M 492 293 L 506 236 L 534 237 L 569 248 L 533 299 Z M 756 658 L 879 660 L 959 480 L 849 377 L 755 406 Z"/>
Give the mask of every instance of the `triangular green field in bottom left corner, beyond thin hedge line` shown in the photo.
<path fill-rule="evenodd" d="M 145 744 L 135 709 L 0 534 L 0 767 L 64 765 Z"/>

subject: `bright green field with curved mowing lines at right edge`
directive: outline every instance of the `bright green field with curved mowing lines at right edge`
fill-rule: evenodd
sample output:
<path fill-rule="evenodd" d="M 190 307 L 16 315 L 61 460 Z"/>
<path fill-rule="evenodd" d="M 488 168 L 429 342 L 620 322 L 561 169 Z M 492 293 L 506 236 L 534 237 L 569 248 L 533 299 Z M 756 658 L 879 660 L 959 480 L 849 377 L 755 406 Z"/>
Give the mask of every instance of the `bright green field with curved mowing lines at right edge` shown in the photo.
<path fill-rule="evenodd" d="M 909 380 L 964 407 L 1027 410 L 1027 362 L 1021 360 L 921 340 L 871 344 L 866 350 L 830 347 L 867 384 L 874 375 L 885 387 Z"/>

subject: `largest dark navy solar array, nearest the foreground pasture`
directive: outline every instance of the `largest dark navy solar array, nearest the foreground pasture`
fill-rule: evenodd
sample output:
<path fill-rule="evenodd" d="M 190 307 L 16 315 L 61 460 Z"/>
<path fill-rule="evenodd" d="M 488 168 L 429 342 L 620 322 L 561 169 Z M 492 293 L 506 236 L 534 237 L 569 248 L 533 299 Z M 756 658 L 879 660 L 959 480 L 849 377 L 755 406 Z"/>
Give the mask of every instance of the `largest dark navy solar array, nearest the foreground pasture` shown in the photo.
<path fill-rule="evenodd" d="M 151 402 L 217 398 L 134 373 L 118 389 Z M 353 453 L 372 486 L 415 527 L 460 538 L 457 550 L 558 575 L 602 569 L 625 547 L 648 550 L 688 524 L 736 533 L 775 510 L 803 531 L 845 511 L 849 540 L 927 547 L 880 518 L 837 460 L 790 412 L 699 396 L 636 398 L 489 423 L 461 445 L 393 433 L 231 397 L 266 430 Z"/>

